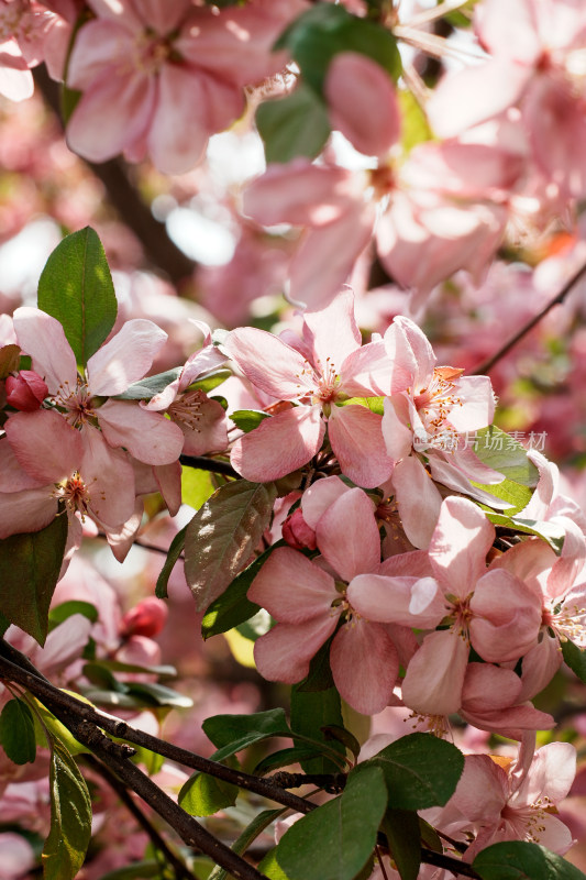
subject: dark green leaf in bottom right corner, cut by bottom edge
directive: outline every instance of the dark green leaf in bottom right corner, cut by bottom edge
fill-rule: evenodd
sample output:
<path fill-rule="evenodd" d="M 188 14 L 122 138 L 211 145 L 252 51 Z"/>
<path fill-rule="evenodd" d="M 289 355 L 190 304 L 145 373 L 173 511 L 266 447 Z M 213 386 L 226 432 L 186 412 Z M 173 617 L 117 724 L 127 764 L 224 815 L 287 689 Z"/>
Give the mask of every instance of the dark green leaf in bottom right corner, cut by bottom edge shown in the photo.
<path fill-rule="evenodd" d="M 472 867 L 483 880 L 586 880 L 582 871 L 561 856 L 521 840 L 483 849 Z"/>

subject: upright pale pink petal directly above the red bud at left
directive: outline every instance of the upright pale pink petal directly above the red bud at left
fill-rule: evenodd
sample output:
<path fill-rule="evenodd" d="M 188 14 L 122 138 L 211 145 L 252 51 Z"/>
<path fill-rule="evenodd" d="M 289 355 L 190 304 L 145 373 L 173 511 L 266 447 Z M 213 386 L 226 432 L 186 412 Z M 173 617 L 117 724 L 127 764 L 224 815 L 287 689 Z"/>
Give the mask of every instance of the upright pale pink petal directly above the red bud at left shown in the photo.
<path fill-rule="evenodd" d="M 23 306 L 15 310 L 14 331 L 19 345 L 33 361 L 33 370 L 43 376 L 51 394 L 60 385 L 77 384 L 77 364 L 60 323 L 41 309 Z"/>

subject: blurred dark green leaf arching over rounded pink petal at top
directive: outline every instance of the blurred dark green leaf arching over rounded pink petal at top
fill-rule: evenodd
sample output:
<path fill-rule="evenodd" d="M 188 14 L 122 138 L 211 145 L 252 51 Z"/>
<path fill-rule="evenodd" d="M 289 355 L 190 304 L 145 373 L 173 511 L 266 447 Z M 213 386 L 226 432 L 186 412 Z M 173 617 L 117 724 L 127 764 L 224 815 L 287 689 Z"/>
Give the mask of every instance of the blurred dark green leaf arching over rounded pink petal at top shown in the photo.
<path fill-rule="evenodd" d="M 395 80 L 401 73 L 397 41 L 390 31 L 333 3 L 318 3 L 296 19 L 275 47 L 289 50 L 303 79 L 320 96 L 328 67 L 340 52 L 366 55 Z"/>

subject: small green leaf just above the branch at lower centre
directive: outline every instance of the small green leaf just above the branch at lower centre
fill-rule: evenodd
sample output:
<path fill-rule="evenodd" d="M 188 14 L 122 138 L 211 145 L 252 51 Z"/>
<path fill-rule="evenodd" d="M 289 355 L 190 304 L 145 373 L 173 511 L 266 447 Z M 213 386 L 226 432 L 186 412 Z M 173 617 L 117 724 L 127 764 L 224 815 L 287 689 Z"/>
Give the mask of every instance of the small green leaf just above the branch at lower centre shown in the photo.
<path fill-rule="evenodd" d="M 203 722 L 202 729 L 218 749 L 212 756 L 214 761 L 223 761 L 268 737 L 291 735 L 283 708 L 252 715 L 212 715 Z"/>

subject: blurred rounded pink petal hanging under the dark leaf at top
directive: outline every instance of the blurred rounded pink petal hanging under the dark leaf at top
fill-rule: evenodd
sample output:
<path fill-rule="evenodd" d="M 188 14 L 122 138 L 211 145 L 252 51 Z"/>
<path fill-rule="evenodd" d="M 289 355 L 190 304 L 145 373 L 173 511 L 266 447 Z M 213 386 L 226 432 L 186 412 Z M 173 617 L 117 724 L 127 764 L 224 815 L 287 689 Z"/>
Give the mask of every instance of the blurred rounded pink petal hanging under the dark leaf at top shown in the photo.
<path fill-rule="evenodd" d="M 323 88 L 330 121 L 367 156 L 384 156 L 399 138 L 395 86 L 379 64 L 356 52 L 341 52 L 328 68 Z"/>

